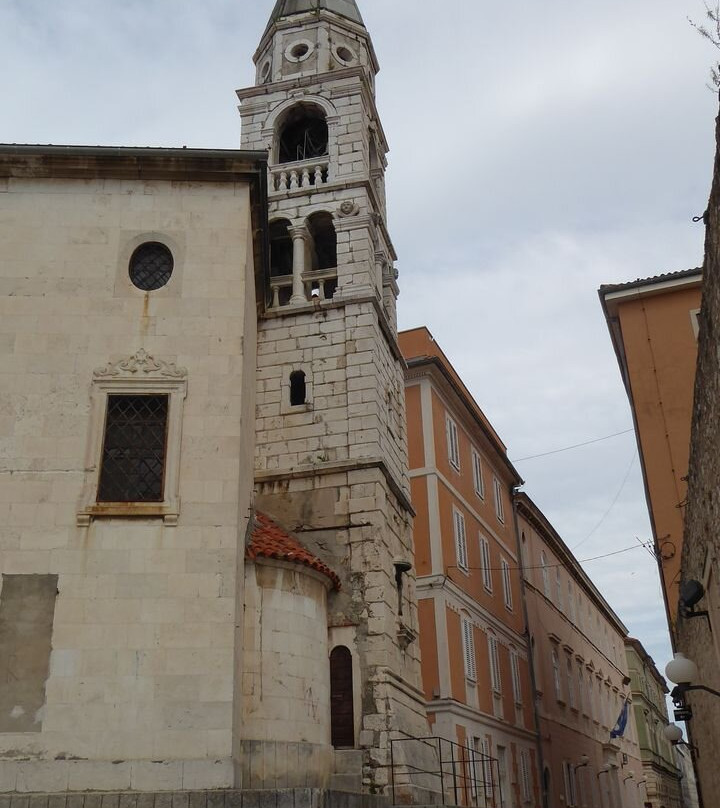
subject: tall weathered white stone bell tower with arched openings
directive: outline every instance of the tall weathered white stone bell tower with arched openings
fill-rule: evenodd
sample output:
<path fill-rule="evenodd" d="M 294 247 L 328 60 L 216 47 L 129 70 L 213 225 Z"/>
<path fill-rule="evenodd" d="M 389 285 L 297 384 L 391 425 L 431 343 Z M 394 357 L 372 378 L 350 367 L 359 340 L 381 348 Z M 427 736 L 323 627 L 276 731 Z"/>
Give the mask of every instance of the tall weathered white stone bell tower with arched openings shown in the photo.
<path fill-rule="evenodd" d="M 270 165 L 256 507 L 339 576 L 328 650 L 351 683 L 332 670 L 318 709 L 328 747 L 356 750 L 358 790 L 387 793 L 390 740 L 429 732 L 379 67 L 354 0 L 279 0 L 254 61 L 238 97 L 242 147 Z"/>

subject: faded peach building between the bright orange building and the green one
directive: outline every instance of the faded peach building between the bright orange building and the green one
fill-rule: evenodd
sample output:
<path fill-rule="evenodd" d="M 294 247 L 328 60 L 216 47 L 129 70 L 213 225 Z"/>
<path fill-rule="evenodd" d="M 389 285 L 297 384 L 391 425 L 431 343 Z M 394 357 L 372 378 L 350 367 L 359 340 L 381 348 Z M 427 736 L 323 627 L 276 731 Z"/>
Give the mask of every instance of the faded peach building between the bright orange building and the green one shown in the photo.
<path fill-rule="evenodd" d="M 533 653 L 542 783 L 549 808 L 640 808 L 627 629 L 523 493 L 516 496 Z M 622 737 L 611 739 L 627 702 Z"/>

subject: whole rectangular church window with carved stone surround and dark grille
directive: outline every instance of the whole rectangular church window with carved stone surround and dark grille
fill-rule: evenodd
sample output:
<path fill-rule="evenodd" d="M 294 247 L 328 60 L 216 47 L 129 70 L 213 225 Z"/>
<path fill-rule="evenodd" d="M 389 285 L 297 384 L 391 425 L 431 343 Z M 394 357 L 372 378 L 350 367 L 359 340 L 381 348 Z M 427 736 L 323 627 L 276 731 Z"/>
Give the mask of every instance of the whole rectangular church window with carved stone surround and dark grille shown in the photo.
<path fill-rule="evenodd" d="M 177 524 L 187 378 L 144 348 L 95 369 L 79 525 L 120 517 Z"/>

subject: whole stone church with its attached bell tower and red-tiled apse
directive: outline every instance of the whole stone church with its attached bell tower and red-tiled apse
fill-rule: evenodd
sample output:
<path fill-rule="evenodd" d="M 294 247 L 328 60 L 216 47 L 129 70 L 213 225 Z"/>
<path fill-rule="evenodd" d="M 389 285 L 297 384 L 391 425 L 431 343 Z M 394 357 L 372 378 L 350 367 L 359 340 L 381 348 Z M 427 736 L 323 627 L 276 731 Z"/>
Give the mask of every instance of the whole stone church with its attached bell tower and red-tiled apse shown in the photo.
<path fill-rule="evenodd" d="M 14 800 L 387 795 L 429 734 L 377 60 L 280 0 L 255 62 L 242 151 L 0 147 Z"/>

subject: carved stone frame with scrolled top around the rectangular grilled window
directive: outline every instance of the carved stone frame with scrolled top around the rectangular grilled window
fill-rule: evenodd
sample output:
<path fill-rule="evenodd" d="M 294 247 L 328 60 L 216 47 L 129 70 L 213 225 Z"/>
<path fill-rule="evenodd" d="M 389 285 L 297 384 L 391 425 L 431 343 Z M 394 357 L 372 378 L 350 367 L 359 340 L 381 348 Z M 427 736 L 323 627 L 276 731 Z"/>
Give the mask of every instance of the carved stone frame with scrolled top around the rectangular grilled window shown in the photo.
<path fill-rule="evenodd" d="M 167 439 L 163 499 L 160 502 L 98 502 L 105 420 L 110 395 L 167 395 Z M 78 525 L 103 517 L 162 518 L 177 524 L 180 515 L 180 444 L 187 370 L 155 359 L 144 349 L 93 372 L 90 421 L 85 457 L 85 485 L 77 512 Z"/>

